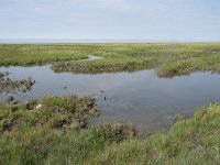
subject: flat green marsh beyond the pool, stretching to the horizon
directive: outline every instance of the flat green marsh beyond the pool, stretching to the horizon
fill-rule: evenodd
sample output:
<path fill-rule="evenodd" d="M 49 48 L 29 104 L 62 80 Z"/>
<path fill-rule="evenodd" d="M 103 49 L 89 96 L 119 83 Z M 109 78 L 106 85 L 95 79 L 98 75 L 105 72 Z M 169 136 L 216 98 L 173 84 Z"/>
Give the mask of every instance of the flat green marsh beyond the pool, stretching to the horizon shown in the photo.
<path fill-rule="evenodd" d="M 87 55 L 103 57 L 73 62 Z M 0 65 L 53 63 L 55 72 L 105 73 L 156 68 L 161 77 L 220 72 L 220 43 L 0 45 Z"/>

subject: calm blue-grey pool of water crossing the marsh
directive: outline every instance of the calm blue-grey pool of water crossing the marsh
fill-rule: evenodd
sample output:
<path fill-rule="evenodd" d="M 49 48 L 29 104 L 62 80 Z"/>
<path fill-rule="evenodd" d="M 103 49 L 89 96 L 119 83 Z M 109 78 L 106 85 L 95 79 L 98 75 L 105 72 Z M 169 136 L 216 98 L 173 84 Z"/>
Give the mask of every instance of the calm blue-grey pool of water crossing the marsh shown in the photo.
<path fill-rule="evenodd" d="M 0 68 L 0 72 L 6 70 L 12 73 L 12 79 L 31 76 L 36 80 L 30 92 L 15 94 L 18 100 L 45 95 L 92 95 L 102 111 L 100 118 L 92 121 L 95 124 L 133 123 L 141 132 L 166 130 L 170 125 L 166 117 L 177 112 L 190 117 L 195 108 L 220 101 L 220 75 L 209 72 L 169 79 L 158 78 L 154 70 L 77 75 L 55 74 L 48 65 Z M 0 99 L 7 96 L 0 94 Z"/>

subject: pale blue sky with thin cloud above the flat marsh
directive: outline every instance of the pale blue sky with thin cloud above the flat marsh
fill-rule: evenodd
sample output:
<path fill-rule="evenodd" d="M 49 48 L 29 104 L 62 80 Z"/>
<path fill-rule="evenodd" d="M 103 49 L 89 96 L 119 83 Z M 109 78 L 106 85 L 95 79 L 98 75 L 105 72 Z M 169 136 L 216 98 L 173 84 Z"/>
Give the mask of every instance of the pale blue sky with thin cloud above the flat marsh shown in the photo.
<path fill-rule="evenodd" d="M 220 41 L 220 0 L 0 0 L 0 41 Z"/>

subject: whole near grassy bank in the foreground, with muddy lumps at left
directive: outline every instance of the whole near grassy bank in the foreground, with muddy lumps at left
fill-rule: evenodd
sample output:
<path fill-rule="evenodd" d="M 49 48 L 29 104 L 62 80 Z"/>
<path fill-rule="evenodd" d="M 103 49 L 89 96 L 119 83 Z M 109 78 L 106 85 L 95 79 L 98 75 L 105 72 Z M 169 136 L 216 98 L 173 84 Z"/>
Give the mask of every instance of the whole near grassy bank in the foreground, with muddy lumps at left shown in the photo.
<path fill-rule="evenodd" d="M 146 139 L 121 130 L 76 129 L 69 119 L 88 120 L 88 97 L 50 97 L 32 103 L 0 107 L 0 164 L 219 164 L 220 106 L 199 108 L 189 120 L 179 120 L 167 133 Z M 30 109 L 30 110 L 28 110 Z M 84 118 L 86 117 L 86 118 Z M 89 117 L 89 118 L 88 118 Z M 12 124 L 9 124 L 12 123 Z M 8 125 L 8 127 L 7 127 Z M 11 127 L 9 127 L 11 125 Z"/>

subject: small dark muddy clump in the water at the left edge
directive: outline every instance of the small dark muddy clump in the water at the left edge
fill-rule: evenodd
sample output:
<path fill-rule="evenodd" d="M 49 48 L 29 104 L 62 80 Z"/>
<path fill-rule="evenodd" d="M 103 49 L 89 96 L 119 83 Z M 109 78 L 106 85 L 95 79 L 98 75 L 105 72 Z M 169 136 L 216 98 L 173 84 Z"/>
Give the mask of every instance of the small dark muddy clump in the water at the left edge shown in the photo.
<path fill-rule="evenodd" d="M 31 77 L 28 79 L 12 80 L 9 73 L 0 73 L 0 94 L 1 92 L 26 92 L 35 84 Z"/>

